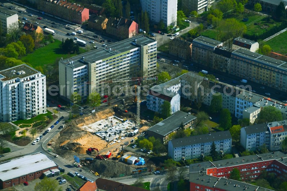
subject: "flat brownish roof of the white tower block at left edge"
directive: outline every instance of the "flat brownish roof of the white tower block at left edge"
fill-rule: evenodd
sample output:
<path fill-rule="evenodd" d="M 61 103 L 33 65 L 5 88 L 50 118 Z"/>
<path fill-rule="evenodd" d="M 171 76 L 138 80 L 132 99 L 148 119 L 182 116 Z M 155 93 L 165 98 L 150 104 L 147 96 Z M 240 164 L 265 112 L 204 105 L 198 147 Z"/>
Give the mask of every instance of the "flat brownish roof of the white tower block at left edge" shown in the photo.
<path fill-rule="evenodd" d="M 35 69 L 31 68 L 26 64 L 18 65 L 6 70 L 0 71 L 0 80 L 1 81 L 9 81 L 15 78 L 25 78 L 30 75 L 34 75 L 39 73 Z"/>

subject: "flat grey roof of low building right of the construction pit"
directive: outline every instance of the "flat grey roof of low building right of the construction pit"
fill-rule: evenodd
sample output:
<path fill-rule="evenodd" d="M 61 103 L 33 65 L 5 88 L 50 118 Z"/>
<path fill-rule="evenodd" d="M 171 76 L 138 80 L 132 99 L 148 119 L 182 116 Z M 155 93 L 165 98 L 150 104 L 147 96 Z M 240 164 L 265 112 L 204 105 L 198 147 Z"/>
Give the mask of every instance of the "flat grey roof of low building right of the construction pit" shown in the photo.
<path fill-rule="evenodd" d="M 196 117 L 191 114 L 177 111 L 174 112 L 170 117 L 149 128 L 148 131 L 156 132 L 159 135 L 166 136 L 170 132 L 177 130 L 181 125 L 181 122 L 183 124 L 187 124 L 194 119 L 196 119 Z"/>

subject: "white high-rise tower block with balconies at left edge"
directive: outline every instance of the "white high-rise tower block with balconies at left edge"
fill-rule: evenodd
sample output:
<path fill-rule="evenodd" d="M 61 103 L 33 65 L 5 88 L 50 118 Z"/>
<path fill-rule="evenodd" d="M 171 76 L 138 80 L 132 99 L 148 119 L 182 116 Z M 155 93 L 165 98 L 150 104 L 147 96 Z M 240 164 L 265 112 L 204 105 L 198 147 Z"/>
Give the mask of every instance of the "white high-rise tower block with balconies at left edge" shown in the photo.
<path fill-rule="evenodd" d="M 1 121 L 46 113 L 46 76 L 26 64 L 0 71 Z"/>

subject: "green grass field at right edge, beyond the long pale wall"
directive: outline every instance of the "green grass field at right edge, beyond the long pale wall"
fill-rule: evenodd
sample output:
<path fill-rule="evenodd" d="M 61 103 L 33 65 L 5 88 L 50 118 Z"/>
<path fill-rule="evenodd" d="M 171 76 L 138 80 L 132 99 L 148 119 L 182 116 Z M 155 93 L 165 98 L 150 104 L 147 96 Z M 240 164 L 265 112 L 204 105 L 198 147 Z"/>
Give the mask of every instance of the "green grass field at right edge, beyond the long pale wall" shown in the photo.
<path fill-rule="evenodd" d="M 278 52 L 280 54 L 287 54 L 286 39 L 287 39 L 287 31 L 266 41 L 266 44 L 268 44 L 274 52 Z"/>

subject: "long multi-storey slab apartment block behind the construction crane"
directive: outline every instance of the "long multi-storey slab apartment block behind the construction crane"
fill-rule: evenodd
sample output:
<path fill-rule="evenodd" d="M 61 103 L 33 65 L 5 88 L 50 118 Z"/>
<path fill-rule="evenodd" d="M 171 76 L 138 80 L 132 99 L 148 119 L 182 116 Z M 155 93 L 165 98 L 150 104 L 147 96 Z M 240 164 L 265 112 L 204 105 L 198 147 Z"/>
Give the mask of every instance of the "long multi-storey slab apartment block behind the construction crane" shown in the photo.
<path fill-rule="evenodd" d="M 91 92 L 103 93 L 101 81 L 156 75 L 156 45 L 139 35 L 59 61 L 61 97 L 77 92 L 85 100 Z"/>

